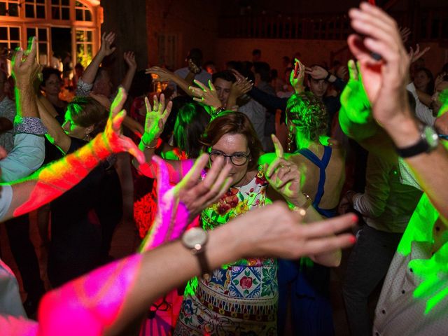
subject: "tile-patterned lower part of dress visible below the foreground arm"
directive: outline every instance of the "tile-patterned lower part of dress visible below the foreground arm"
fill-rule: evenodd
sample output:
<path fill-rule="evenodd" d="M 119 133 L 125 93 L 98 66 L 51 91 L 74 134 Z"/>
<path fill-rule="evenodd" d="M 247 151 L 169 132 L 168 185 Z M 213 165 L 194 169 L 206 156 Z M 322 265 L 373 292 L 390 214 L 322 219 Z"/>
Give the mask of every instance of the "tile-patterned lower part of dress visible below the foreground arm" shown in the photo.
<path fill-rule="evenodd" d="M 186 295 L 174 335 L 276 335 L 276 262 L 228 265 Z M 186 292 L 188 293 L 188 291 Z"/>

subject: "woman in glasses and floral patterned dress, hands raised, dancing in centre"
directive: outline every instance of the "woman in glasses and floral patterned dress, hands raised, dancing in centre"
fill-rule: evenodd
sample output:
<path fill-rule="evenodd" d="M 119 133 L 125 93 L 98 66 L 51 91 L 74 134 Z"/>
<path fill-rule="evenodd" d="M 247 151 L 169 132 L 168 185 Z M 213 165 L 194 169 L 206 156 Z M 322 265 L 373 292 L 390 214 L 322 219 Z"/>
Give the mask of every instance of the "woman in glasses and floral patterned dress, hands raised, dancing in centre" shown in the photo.
<path fill-rule="evenodd" d="M 148 101 L 146 104 L 149 109 Z M 151 157 L 170 109 L 169 103 L 165 110 L 165 99 L 161 96 L 160 103 L 155 98 L 153 111 L 147 112 L 145 134 L 139 145 L 146 155 L 146 164 L 137 168 L 149 177 L 155 176 Z M 218 114 L 207 126 L 201 142 L 204 145 L 202 151 L 209 153 L 211 162 L 225 162 L 223 169 L 228 169 L 227 180 L 231 180 L 231 183 L 224 181 L 221 190 L 211 190 L 216 195 L 227 190 L 222 197 L 216 197 L 208 204 L 197 202 L 197 209 L 188 208 L 190 220 L 201 213 L 204 230 L 217 228 L 231 218 L 270 202 L 266 198 L 268 181 L 272 181 L 272 187 L 291 204 L 300 206 L 304 203 L 299 190 L 300 176 L 294 165 L 281 155 L 269 167 L 258 165 L 262 146 L 250 120 L 243 113 Z M 178 183 L 193 166 L 193 160 L 165 162 L 171 183 Z M 269 172 L 268 177 L 265 177 L 265 170 Z M 206 175 L 207 171 L 204 171 L 203 178 Z M 300 200 L 291 196 L 299 193 Z M 235 335 L 244 332 L 276 335 L 276 260 L 249 257 L 223 265 L 209 276 L 190 281 L 174 335 Z"/>

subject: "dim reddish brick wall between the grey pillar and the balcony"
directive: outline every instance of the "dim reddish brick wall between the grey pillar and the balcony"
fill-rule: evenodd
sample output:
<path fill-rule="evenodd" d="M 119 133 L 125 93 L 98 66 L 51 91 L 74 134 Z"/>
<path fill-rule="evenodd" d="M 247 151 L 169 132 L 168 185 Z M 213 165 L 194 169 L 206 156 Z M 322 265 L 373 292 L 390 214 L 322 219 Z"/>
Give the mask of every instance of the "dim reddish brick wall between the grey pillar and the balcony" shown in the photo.
<path fill-rule="evenodd" d="M 147 0 L 148 64 L 163 62 L 158 59 L 159 34 L 176 34 L 179 37 L 175 68 L 184 65 L 183 60 L 191 48 L 202 49 L 204 61 L 214 59 L 218 8 L 218 1 Z"/>

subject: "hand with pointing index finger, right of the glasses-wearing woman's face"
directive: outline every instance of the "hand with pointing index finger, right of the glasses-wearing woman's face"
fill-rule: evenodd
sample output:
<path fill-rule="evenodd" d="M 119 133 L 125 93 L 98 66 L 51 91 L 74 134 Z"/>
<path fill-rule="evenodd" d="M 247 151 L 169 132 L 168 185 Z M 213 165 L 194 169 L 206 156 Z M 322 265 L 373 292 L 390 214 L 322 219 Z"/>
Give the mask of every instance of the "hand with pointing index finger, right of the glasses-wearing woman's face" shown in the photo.
<path fill-rule="evenodd" d="M 277 193 L 285 197 L 285 199 L 296 205 L 302 205 L 300 200 L 300 172 L 293 162 L 285 160 L 283 156 L 283 147 L 279 139 L 272 134 L 272 142 L 275 147 L 276 158 L 269 164 L 265 165 L 265 176 Z"/>

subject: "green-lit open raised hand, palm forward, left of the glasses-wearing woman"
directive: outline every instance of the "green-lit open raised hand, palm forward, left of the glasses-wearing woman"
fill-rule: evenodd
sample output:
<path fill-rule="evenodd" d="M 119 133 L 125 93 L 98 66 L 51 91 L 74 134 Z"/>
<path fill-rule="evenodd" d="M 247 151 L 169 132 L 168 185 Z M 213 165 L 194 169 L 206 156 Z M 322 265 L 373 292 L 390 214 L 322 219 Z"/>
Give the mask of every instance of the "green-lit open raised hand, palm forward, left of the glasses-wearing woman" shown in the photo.
<path fill-rule="evenodd" d="M 146 144 L 150 144 L 151 141 L 157 139 L 160 137 L 160 134 L 162 134 L 165 123 L 167 123 L 169 113 L 171 113 L 173 103 L 169 102 L 165 108 L 165 95 L 160 94 L 160 99 L 158 99 L 157 96 L 154 96 L 154 104 L 152 109 L 148 98 L 145 97 L 145 106 L 145 133 L 141 139 Z"/>

